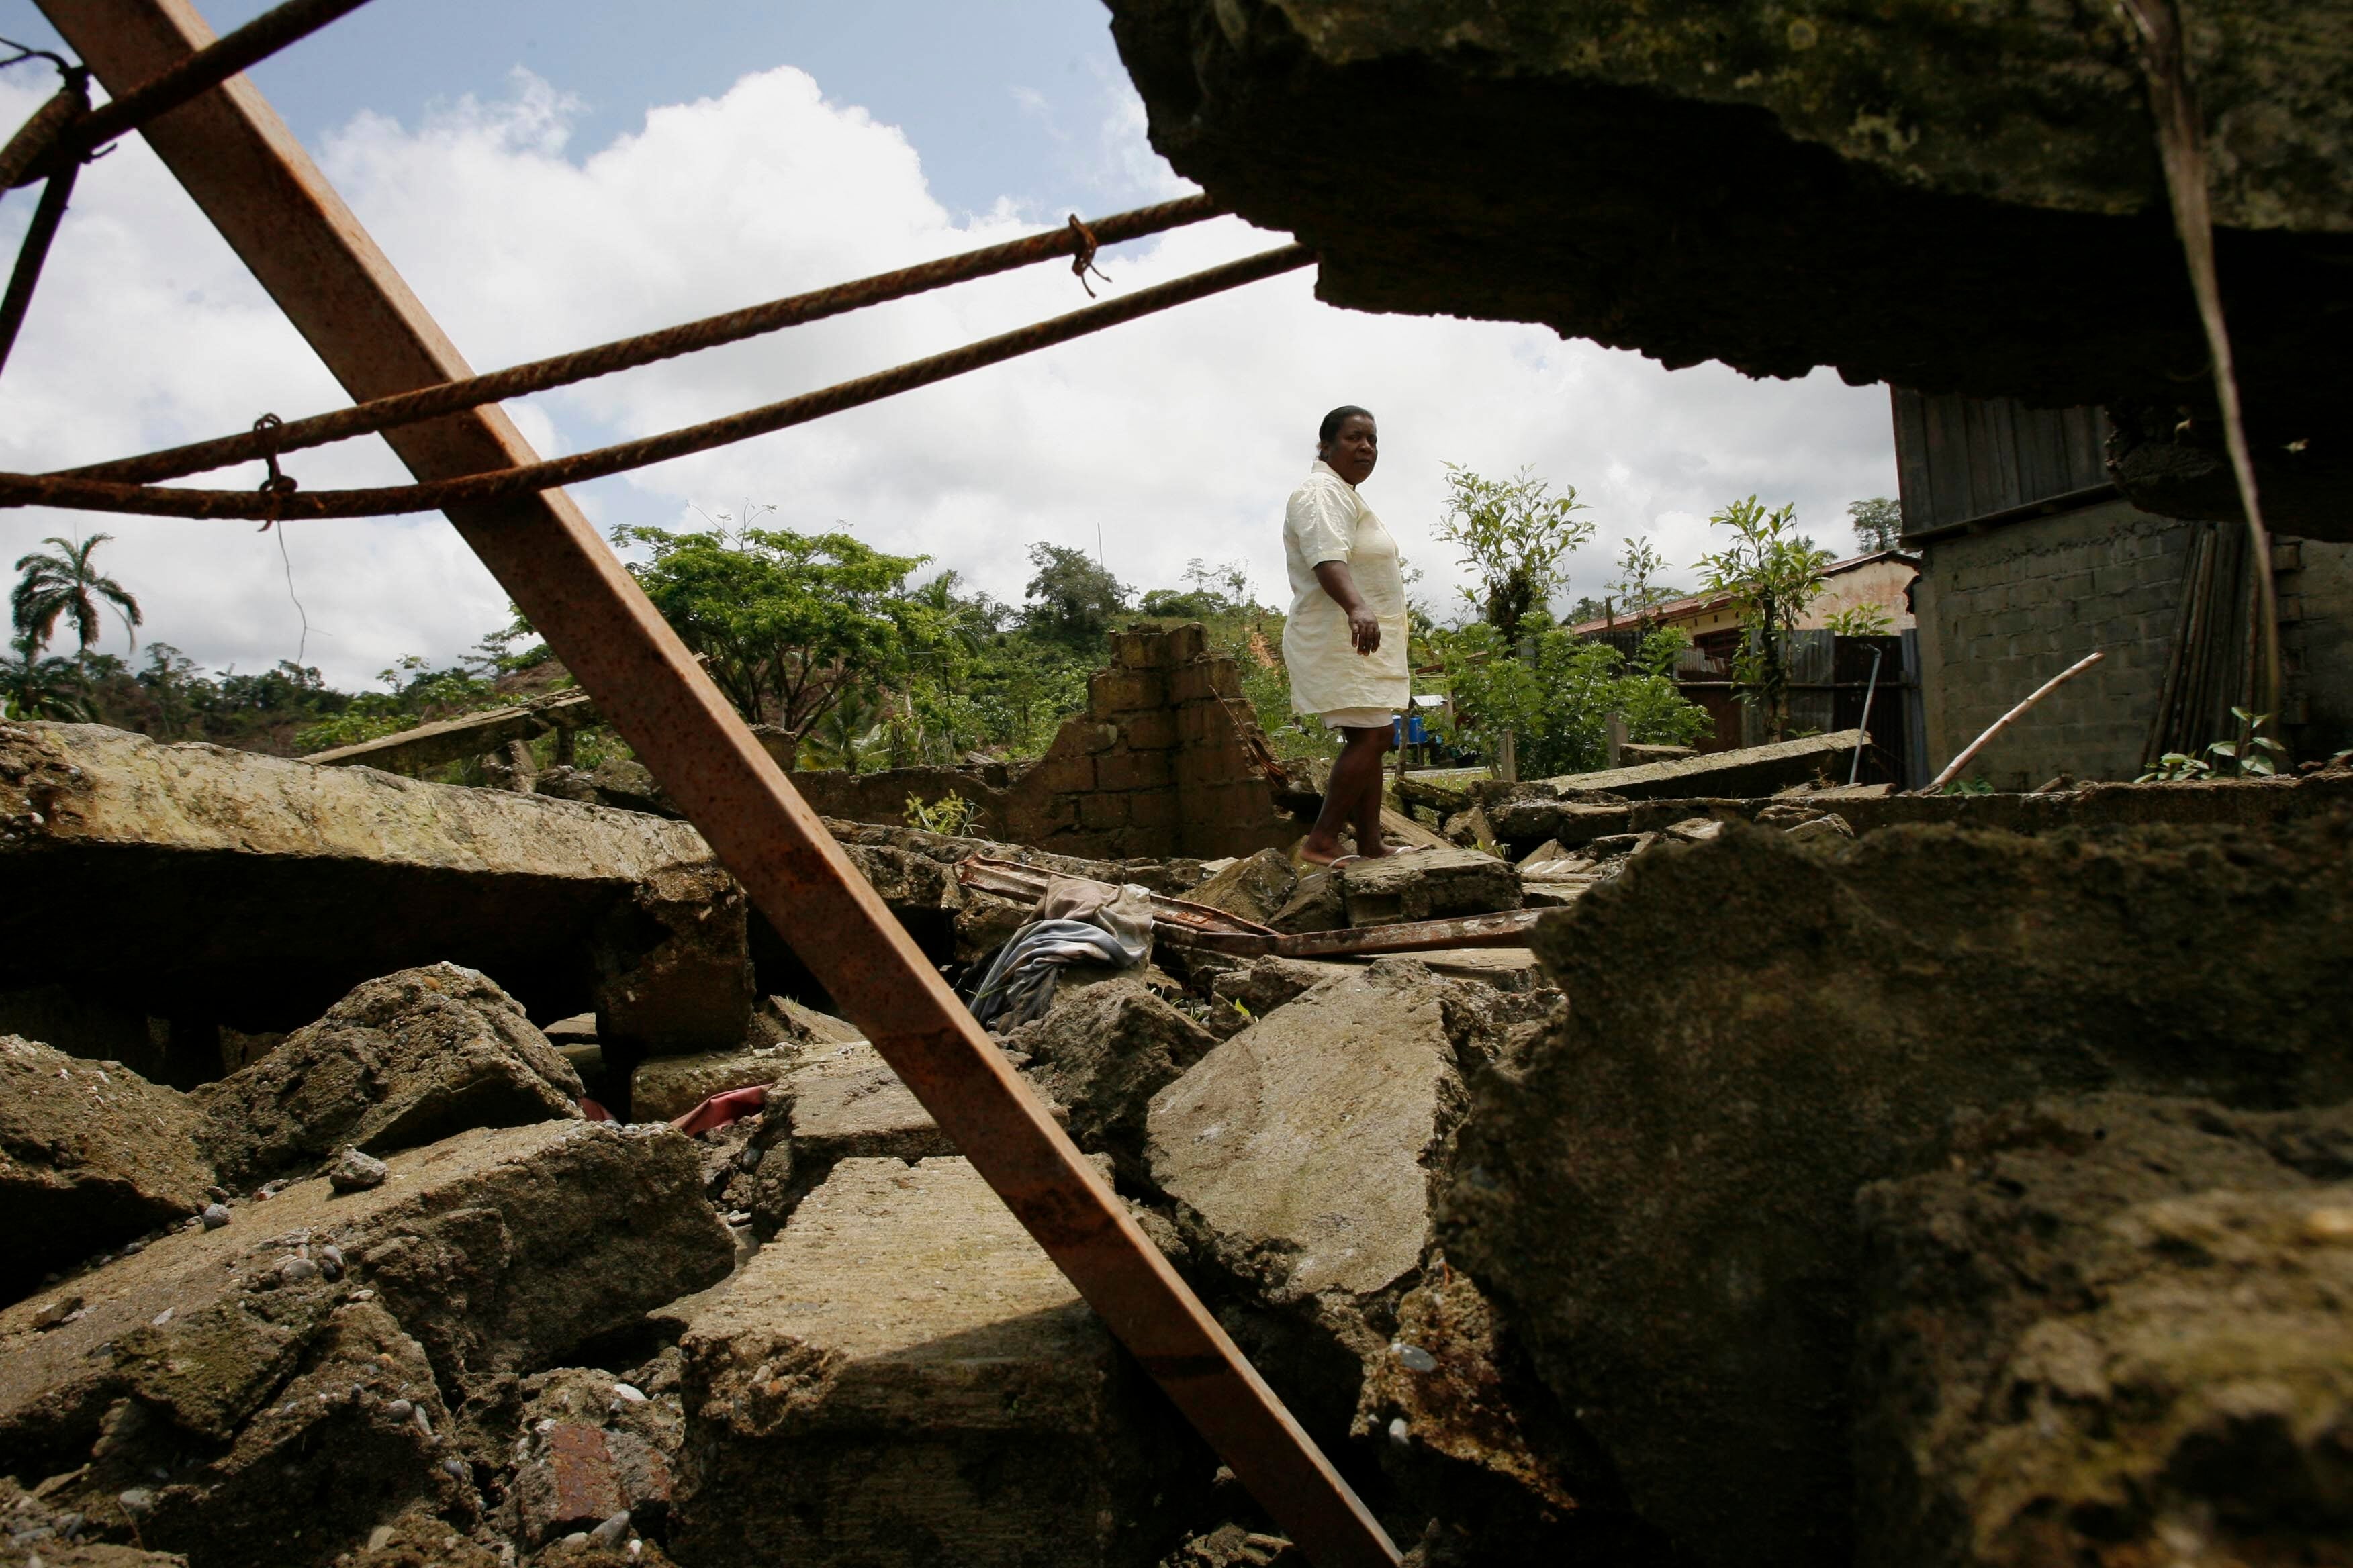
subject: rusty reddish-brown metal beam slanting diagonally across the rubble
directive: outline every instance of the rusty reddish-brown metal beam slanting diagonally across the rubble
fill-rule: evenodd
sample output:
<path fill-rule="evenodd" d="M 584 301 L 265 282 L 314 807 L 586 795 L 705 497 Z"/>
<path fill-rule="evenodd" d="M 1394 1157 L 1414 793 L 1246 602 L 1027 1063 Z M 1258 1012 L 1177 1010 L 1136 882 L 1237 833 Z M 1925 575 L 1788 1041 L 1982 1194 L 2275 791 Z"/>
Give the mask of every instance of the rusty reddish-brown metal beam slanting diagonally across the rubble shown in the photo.
<path fill-rule="evenodd" d="M 153 80 L 212 42 L 186 0 L 40 5 L 108 87 Z M 468 374 L 249 80 L 153 120 L 146 136 L 353 400 Z M 499 409 L 386 440 L 421 480 L 534 456 Z M 1395 1563 L 1379 1521 L 988 1044 L 579 508 L 544 494 L 454 508 L 449 520 L 842 1011 L 1292 1540 L 1315 1563 Z"/>

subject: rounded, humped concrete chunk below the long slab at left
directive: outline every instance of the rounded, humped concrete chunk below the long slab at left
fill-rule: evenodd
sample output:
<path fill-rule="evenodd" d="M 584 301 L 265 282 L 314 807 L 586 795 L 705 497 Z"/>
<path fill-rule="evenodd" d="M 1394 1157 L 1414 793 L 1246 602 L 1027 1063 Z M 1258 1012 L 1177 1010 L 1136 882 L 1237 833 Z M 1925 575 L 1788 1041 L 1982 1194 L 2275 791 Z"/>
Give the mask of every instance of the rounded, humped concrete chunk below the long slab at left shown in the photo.
<path fill-rule="evenodd" d="M 231 1187 L 440 1143 L 473 1126 L 576 1119 L 579 1074 L 522 1006 L 473 969 L 367 980 L 252 1067 L 205 1084 L 195 1143 Z"/>

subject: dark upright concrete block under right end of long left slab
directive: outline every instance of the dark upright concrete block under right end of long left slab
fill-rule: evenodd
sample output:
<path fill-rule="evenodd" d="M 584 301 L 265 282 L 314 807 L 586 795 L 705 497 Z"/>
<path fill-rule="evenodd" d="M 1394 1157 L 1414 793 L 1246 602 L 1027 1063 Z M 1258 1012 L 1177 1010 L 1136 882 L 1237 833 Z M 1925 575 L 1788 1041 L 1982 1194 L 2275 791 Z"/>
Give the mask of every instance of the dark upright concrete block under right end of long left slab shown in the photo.
<path fill-rule="evenodd" d="M 715 863 L 664 865 L 602 919 L 595 1034 L 607 1056 L 694 1056 L 751 1030 L 748 900 Z"/>

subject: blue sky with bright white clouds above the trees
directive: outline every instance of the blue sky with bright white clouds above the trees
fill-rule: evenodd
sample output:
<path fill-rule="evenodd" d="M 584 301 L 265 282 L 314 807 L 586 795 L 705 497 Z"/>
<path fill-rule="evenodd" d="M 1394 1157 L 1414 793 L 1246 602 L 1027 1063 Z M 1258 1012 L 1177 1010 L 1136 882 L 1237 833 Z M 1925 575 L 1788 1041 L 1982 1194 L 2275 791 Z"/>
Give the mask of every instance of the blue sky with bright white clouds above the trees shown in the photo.
<path fill-rule="evenodd" d="M 207 7 L 219 28 L 259 0 Z M 54 45 L 28 0 L 5 35 Z M 1188 190 L 1151 150 L 1099 0 L 376 0 L 256 80 L 475 369 L 809 289 Z M 0 73 L 0 122 L 52 92 Z M 0 202 L 9 252 L 33 200 Z M 1278 244 L 1238 221 L 1104 254 L 1111 292 Z M 1104 289 L 1104 284 L 1096 284 Z M 711 418 L 1082 306 L 1068 268 L 965 284 L 513 404 L 544 454 Z M 132 139 L 82 174 L 33 317 L 0 376 L 0 468 L 45 470 L 336 407 L 336 386 Z M 1445 463 L 1574 484 L 1598 538 L 1675 567 L 1751 491 L 1845 550 L 1845 505 L 1894 494 L 1887 397 L 1821 371 L 1661 371 L 1544 327 L 1358 315 L 1313 273 L 584 487 L 600 524 L 847 529 L 1019 599 L 1031 541 L 1101 550 L 1174 585 L 1249 562 L 1278 599 L 1282 498 L 1315 418 L 1381 416 L 1367 498 L 1428 569 Z M 400 482 L 374 437 L 289 461 L 306 487 Z M 231 470 L 214 484 L 252 484 Z M 14 559 L 49 534 L 115 536 L 106 567 L 146 637 L 207 668 L 301 656 L 360 686 L 402 654 L 466 651 L 506 597 L 438 517 L 235 522 L 0 512 Z M 280 552 L 285 550 L 285 555 Z M 308 616 L 289 595 L 299 595 Z M 1687 574 L 1685 574 L 1687 576 Z M 127 651 L 120 628 L 104 644 Z"/>

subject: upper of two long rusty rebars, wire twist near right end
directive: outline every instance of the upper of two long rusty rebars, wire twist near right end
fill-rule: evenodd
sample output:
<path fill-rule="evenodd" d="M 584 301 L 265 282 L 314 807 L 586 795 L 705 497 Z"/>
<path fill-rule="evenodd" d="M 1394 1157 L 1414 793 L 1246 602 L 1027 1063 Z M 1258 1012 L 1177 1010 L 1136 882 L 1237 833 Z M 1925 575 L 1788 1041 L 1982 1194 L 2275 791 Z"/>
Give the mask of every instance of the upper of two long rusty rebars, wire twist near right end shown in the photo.
<path fill-rule="evenodd" d="M 1209 197 L 1188 195 L 1174 202 L 1160 202 L 1158 207 L 1120 212 L 1087 226 L 1080 226 L 1078 216 L 1073 216 L 1066 228 L 1052 228 L 1024 240 L 986 244 L 974 252 L 962 252 L 960 256 L 941 256 L 939 261 L 925 261 L 922 266 L 878 273 L 873 277 L 859 277 L 854 282 L 814 289 L 809 294 L 788 294 L 784 299 L 746 306 L 741 310 L 727 310 L 722 315 L 706 315 L 699 322 L 680 322 L 678 327 L 664 327 L 661 331 L 642 331 L 638 336 L 598 343 L 567 355 L 532 360 L 529 364 L 466 376 L 464 381 L 445 381 L 440 386 L 400 393 L 395 397 L 376 397 L 332 414 L 294 418 L 278 428 L 278 440 L 271 451 L 282 456 L 287 451 L 322 447 L 353 435 L 412 425 L 424 418 L 473 409 L 485 402 L 529 397 L 532 393 L 546 393 L 576 381 L 588 381 L 593 376 L 609 376 L 614 371 L 675 360 L 678 355 L 704 348 L 741 343 L 744 339 L 781 331 L 784 327 L 798 327 L 802 322 L 816 322 L 828 315 L 845 315 L 849 310 L 864 310 L 866 306 L 925 294 L 953 282 L 1009 273 L 1038 261 L 1075 256 L 1080 266 L 1085 266 L 1094 261 L 1094 249 L 1099 244 L 1141 240 L 1146 235 L 1158 235 L 1186 223 L 1200 223 L 1202 219 L 1221 214 L 1224 207 Z M 247 463 L 259 456 L 264 456 L 261 440 L 252 430 L 240 430 L 235 435 L 191 442 L 186 447 L 169 447 L 165 451 L 148 451 L 134 458 L 71 468 L 66 475 L 78 480 L 153 484 L 155 480 L 179 480 L 184 475 L 205 473 L 207 468 Z"/>

